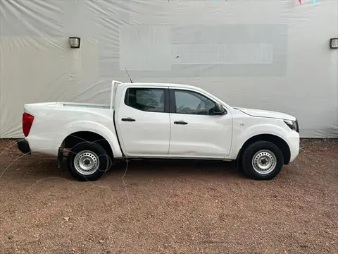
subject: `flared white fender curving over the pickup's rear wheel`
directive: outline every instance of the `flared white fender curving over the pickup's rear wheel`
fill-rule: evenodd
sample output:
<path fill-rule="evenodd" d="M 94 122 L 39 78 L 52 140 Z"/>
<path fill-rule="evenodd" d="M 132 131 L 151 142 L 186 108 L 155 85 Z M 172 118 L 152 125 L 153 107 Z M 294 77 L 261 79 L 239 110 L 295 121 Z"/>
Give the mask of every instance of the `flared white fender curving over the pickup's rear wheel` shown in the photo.
<path fill-rule="evenodd" d="M 102 125 L 101 123 L 96 123 L 93 121 L 76 121 L 73 123 L 68 123 L 65 126 L 63 126 L 61 135 L 58 135 L 56 137 L 54 143 L 58 145 L 58 147 L 60 147 L 61 144 L 63 143 L 63 140 L 65 140 L 65 138 L 67 138 L 68 135 L 76 133 L 78 131 L 89 131 L 104 137 L 108 141 L 109 145 L 111 145 L 113 156 L 115 158 L 119 158 L 122 157 L 123 155 L 113 126 L 112 129 L 113 131 L 111 131 L 109 128 Z"/>

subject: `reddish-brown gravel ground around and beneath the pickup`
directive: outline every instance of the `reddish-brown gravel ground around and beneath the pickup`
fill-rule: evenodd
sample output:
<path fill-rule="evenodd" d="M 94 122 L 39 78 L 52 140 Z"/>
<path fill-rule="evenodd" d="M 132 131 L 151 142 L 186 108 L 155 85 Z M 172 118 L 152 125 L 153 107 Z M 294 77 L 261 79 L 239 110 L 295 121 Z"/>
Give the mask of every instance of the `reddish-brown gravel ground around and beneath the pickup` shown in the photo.
<path fill-rule="evenodd" d="M 82 183 L 0 140 L 0 252 L 338 253 L 338 142 L 301 147 L 273 181 L 225 162 L 135 161 Z"/>

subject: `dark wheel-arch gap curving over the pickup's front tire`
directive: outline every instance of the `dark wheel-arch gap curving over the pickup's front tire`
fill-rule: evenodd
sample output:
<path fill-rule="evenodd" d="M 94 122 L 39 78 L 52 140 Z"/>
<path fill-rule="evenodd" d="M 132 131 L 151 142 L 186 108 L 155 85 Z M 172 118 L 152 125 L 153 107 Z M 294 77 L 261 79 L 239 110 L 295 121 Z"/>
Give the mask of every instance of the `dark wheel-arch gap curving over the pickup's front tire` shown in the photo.
<path fill-rule="evenodd" d="M 254 135 L 253 137 L 249 138 L 242 145 L 242 147 L 239 150 L 239 153 L 237 155 L 237 159 L 236 159 L 237 165 L 241 166 L 240 164 L 242 163 L 242 155 L 243 155 L 243 152 L 246 149 L 246 147 L 249 147 L 249 145 L 251 145 L 251 144 L 253 144 L 257 141 L 267 141 L 267 142 L 270 142 L 270 143 L 277 145 L 277 147 L 279 147 L 280 150 L 283 153 L 284 164 L 285 165 L 289 164 L 290 157 L 291 157 L 291 151 L 290 151 L 289 145 L 287 145 L 287 142 L 284 139 L 278 137 L 277 135 L 260 134 L 260 135 Z"/>

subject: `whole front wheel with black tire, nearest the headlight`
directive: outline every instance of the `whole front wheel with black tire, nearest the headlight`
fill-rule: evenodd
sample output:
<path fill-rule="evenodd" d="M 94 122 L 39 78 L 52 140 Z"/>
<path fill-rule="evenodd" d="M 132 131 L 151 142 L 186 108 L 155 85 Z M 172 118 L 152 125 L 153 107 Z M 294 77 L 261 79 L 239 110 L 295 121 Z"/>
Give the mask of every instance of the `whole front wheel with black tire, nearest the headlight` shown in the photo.
<path fill-rule="evenodd" d="M 256 157 L 254 161 L 253 157 Z M 271 166 L 268 169 L 262 169 L 262 167 L 265 167 L 264 162 L 266 162 L 267 167 L 269 163 L 271 163 Z M 277 145 L 268 141 L 252 143 L 243 152 L 242 167 L 246 175 L 254 180 L 274 179 L 282 170 L 283 165 L 284 156 L 282 151 Z"/>

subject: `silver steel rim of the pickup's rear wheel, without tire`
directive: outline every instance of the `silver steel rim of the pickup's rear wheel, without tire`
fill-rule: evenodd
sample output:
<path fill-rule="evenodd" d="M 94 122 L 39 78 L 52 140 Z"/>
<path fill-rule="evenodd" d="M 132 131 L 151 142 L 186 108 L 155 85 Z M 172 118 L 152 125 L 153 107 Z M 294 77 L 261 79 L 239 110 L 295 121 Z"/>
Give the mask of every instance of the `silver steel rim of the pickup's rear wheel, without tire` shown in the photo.
<path fill-rule="evenodd" d="M 95 152 L 89 150 L 81 151 L 74 158 L 74 166 L 76 171 L 84 176 L 93 174 L 99 169 L 99 157 Z"/>

